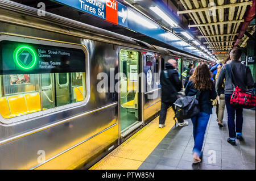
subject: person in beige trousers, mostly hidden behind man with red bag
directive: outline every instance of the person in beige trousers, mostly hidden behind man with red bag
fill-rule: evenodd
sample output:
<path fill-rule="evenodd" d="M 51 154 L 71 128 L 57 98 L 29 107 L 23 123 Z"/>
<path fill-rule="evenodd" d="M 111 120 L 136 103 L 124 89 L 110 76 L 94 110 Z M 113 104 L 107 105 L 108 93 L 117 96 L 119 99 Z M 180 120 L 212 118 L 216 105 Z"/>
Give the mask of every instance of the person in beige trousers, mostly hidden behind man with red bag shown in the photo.
<path fill-rule="evenodd" d="M 218 75 L 220 74 L 220 70 L 222 67 L 222 64 L 224 63 L 224 61 L 220 61 L 218 66 L 217 66 L 217 73 L 215 76 L 215 80 L 216 80 L 216 86 L 217 86 L 217 79 L 218 79 Z M 222 87 L 219 91 L 219 94 L 217 94 L 217 105 L 216 105 L 216 115 L 217 115 L 217 122 L 218 122 L 218 126 L 219 127 L 223 127 L 222 125 L 222 120 L 223 120 L 223 116 L 224 116 L 224 111 L 225 111 L 225 94 L 224 94 L 224 84 L 222 84 Z"/>

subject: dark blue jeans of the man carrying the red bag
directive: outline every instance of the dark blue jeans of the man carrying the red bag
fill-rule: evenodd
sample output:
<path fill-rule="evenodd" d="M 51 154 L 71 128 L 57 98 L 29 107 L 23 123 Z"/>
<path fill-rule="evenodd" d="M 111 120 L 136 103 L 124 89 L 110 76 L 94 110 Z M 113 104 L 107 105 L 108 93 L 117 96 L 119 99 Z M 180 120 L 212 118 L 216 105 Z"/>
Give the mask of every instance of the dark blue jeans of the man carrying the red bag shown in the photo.
<path fill-rule="evenodd" d="M 228 112 L 228 127 L 229 127 L 229 137 L 236 138 L 236 132 L 242 133 L 243 127 L 243 109 L 233 107 L 230 104 L 230 94 L 225 94 L 225 102 L 226 102 L 226 111 Z M 235 125 L 235 112 L 236 112 L 236 125 Z"/>

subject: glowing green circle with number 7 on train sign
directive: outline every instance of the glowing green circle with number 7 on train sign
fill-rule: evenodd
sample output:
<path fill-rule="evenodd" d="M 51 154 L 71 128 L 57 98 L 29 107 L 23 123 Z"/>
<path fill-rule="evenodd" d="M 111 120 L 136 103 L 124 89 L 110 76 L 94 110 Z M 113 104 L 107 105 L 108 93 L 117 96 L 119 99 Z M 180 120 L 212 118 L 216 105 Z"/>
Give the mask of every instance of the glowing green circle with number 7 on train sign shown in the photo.
<path fill-rule="evenodd" d="M 15 50 L 15 61 L 23 69 L 31 69 L 36 64 L 36 54 L 30 47 L 20 47 Z"/>

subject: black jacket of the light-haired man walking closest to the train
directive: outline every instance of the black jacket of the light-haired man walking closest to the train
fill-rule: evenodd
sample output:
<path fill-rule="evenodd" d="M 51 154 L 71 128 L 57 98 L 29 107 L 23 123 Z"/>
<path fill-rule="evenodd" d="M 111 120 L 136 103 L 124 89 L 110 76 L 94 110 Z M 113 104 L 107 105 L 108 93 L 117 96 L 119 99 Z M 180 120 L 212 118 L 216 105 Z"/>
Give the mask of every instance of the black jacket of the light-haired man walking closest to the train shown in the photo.
<path fill-rule="evenodd" d="M 166 104 L 172 104 L 176 101 L 176 94 L 182 88 L 182 83 L 179 79 L 177 70 L 170 63 L 166 63 L 166 69 L 168 71 L 169 80 L 164 75 L 164 71 L 160 74 L 160 84 L 162 86 L 162 102 Z M 172 86 L 170 85 L 170 82 Z M 175 89 L 172 89 L 172 87 Z"/>

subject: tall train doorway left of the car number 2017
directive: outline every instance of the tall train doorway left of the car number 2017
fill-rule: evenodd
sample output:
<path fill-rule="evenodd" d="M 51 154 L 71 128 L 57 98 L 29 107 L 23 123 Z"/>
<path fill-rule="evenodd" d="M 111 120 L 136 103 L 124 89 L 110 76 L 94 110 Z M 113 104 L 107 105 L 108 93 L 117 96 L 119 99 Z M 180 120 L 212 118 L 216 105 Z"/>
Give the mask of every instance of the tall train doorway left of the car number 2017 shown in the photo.
<path fill-rule="evenodd" d="M 121 137 L 124 137 L 141 123 L 139 121 L 139 52 L 121 49 L 119 62 L 121 72 L 119 118 Z"/>

